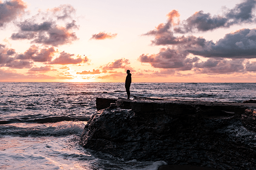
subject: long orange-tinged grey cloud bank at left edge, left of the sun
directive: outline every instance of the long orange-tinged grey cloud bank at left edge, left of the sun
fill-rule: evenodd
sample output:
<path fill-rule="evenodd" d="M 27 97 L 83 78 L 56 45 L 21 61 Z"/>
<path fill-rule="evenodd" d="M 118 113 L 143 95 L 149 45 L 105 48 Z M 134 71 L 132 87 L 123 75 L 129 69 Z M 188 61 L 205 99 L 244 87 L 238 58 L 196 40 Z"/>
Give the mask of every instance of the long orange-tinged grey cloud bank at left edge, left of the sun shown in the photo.
<path fill-rule="evenodd" d="M 12 68 L 31 68 L 33 62 L 44 62 L 44 64 L 79 64 L 82 62 L 88 62 L 89 59 L 84 56 L 77 56 L 73 58 L 75 54 L 69 54 L 62 51 L 60 55 L 52 60 L 54 55 L 58 52 L 53 47 L 39 48 L 36 45 L 32 45 L 28 50 L 22 54 L 17 54 L 14 49 L 6 48 L 5 45 L 0 44 L 0 67 L 12 67 Z M 49 69 L 50 66 L 41 67 L 41 71 Z M 66 69 L 66 68 L 65 68 Z M 31 71 L 40 71 L 38 68 L 32 68 Z M 53 71 L 53 70 L 51 70 Z"/>

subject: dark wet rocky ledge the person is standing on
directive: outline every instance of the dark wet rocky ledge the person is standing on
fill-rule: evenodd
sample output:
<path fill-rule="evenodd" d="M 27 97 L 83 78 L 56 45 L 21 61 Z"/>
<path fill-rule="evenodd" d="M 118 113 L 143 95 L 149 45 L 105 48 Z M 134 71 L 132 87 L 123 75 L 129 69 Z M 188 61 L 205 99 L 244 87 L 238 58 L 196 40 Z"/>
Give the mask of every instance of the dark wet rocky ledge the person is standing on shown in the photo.
<path fill-rule="evenodd" d="M 96 105 L 83 147 L 125 160 L 256 170 L 255 103 L 97 98 Z"/>

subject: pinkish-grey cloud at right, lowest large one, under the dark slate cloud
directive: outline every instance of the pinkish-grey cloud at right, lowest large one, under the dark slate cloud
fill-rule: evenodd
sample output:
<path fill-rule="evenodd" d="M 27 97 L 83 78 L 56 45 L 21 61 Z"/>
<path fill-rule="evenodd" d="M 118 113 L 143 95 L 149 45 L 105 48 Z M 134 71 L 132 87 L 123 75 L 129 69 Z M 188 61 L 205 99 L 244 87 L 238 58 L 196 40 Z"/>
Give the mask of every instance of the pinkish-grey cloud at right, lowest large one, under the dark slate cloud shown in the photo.
<path fill-rule="evenodd" d="M 142 54 L 138 60 L 143 63 L 149 63 L 154 68 L 173 69 L 176 71 L 192 70 L 195 73 L 201 74 L 245 72 L 244 59 L 227 60 L 213 58 L 201 61 L 198 57 L 187 57 L 186 53 L 179 53 L 170 48 L 162 48 L 158 54 Z M 247 65 L 249 66 L 249 63 Z"/>

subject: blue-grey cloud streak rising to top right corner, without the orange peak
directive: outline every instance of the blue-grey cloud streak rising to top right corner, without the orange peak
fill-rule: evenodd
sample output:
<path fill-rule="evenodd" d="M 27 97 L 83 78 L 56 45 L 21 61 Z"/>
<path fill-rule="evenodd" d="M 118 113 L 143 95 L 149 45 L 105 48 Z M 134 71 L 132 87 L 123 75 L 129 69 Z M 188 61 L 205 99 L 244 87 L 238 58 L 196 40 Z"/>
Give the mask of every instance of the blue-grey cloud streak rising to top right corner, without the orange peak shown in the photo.
<path fill-rule="evenodd" d="M 180 33 L 209 31 L 220 27 L 228 28 L 234 24 L 254 22 L 255 4 L 255 0 L 245 0 L 233 9 L 227 9 L 223 15 L 211 16 L 209 13 L 205 14 L 204 11 L 198 11 L 175 27 L 174 31 Z"/>

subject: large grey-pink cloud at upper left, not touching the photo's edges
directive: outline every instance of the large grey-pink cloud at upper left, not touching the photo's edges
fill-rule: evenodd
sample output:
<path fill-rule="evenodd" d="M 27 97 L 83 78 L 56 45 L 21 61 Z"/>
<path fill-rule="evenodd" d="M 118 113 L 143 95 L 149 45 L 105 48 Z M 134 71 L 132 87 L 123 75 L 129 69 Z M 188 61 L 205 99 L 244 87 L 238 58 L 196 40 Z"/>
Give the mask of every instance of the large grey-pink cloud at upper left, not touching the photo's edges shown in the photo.
<path fill-rule="evenodd" d="M 71 5 L 48 9 L 20 22 L 20 30 L 13 33 L 12 40 L 31 40 L 31 43 L 59 46 L 78 40 L 73 29 L 78 29 L 73 19 L 76 10 Z M 63 24 L 64 23 L 64 24 Z M 61 26 L 61 25 L 65 26 Z"/>

